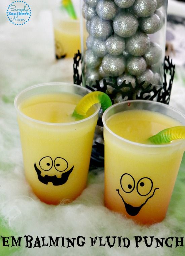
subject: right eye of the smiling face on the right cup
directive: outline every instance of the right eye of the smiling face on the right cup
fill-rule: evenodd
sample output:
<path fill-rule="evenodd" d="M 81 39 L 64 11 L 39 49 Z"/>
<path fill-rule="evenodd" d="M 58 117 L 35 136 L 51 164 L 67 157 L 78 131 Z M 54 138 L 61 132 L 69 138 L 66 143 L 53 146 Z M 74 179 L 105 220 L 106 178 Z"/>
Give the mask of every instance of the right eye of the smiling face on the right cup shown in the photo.
<path fill-rule="evenodd" d="M 147 196 L 153 188 L 153 181 L 150 178 L 141 178 L 137 183 L 137 192 L 140 196 Z"/>

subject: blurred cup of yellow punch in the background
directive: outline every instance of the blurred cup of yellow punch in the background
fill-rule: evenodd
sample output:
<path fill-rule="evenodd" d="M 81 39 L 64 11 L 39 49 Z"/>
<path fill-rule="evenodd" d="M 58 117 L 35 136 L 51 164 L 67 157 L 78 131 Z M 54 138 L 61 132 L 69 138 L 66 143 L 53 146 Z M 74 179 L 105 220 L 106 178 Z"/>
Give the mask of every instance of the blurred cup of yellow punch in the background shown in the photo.
<path fill-rule="evenodd" d="M 54 28 L 56 54 L 73 58 L 80 50 L 80 23 L 79 21 L 60 21 Z"/>

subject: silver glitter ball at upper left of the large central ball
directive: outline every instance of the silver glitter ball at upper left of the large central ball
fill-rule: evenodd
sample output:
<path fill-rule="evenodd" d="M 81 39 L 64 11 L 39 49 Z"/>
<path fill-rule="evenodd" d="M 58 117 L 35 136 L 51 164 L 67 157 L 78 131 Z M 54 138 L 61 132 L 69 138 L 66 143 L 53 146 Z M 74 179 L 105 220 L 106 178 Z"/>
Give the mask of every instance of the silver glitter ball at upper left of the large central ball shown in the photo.
<path fill-rule="evenodd" d="M 100 0 L 96 6 L 97 14 L 104 20 L 114 19 L 117 12 L 117 5 L 112 0 Z"/>

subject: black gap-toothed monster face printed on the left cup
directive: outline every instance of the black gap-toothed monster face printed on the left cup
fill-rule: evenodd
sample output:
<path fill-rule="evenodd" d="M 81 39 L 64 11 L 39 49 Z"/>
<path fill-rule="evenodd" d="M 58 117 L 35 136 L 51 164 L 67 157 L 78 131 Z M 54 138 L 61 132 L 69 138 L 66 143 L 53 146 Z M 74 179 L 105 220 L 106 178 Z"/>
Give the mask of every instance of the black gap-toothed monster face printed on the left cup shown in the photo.
<path fill-rule="evenodd" d="M 36 163 L 34 164 L 35 171 L 37 172 L 39 181 L 46 185 L 48 184 L 48 182 L 52 182 L 53 186 L 60 186 L 66 183 L 70 173 L 73 171 L 73 168 L 74 168 L 73 166 L 70 170 L 66 171 L 68 169 L 68 162 L 61 157 L 57 157 L 54 160 L 54 162 L 51 157 L 43 157 L 39 161 L 39 166 L 40 166 L 39 168 L 41 168 L 42 171 L 38 169 Z M 49 176 L 46 174 L 44 177 L 41 175 L 41 173 L 51 170 L 53 166 L 55 170 L 57 170 L 58 172 L 61 172 L 60 178 L 58 178 L 57 175 Z"/>

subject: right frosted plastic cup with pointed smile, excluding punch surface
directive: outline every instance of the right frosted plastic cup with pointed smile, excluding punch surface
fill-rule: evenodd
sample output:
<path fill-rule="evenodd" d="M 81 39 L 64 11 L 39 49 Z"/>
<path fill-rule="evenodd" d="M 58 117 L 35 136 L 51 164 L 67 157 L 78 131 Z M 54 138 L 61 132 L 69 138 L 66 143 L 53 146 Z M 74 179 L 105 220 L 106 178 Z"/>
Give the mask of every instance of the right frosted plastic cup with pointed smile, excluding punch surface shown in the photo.
<path fill-rule="evenodd" d="M 121 102 L 103 114 L 105 205 L 138 223 L 153 224 L 161 222 L 167 213 L 185 143 L 177 140 L 163 145 L 140 144 L 113 133 L 106 124 L 108 118 L 133 109 L 159 112 L 182 125 L 185 116 L 168 105 L 146 100 Z M 141 191 L 139 186 L 143 186 Z"/>

